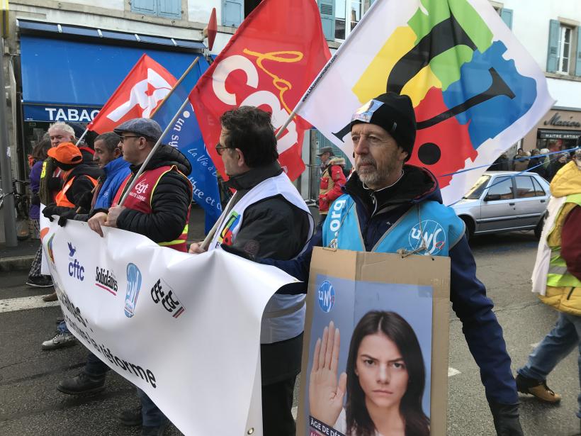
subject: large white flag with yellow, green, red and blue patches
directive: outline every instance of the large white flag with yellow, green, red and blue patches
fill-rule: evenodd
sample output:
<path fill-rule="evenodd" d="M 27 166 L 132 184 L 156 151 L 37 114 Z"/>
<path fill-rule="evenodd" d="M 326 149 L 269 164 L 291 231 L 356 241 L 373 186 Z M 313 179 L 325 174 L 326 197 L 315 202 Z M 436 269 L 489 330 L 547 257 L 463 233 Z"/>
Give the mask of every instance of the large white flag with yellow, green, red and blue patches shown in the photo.
<path fill-rule="evenodd" d="M 554 103 L 543 72 L 487 0 L 376 0 L 297 113 L 351 159 L 352 114 L 386 91 L 412 99 L 409 163 L 438 177 L 446 204 L 485 168 L 466 170 L 487 167 Z"/>

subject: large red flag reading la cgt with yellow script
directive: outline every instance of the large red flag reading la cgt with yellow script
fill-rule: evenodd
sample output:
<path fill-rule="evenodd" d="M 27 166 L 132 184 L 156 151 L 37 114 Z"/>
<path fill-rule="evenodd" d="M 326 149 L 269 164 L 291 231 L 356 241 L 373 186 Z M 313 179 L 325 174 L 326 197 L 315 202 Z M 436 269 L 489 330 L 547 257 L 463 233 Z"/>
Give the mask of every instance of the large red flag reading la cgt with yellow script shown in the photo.
<path fill-rule="evenodd" d="M 330 57 L 315 0 L 261 1 L 190 96 L 205 145 L 222 176 L 224 165 L 214 148 L 222 113 L 256 106 L 272 113 L 278 130 Z M 305 128 L 308 123 L 296 117 L 278 139 L 278 161 L 291 180 L 305 169 L 300 157 Z"/>

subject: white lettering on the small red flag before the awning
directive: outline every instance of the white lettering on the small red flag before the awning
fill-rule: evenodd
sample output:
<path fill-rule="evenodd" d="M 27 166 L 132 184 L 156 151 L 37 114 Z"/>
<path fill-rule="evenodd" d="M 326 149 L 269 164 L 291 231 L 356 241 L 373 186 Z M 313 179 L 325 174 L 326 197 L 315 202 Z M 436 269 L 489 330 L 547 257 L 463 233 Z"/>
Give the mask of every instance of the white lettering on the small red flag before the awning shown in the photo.
<path fill-rule="evenodd" d="M 169 94 L 171 88 L 172 86 L 162 76 L 148 68 L 147 79 L 133 85 L 129 93 L 129 100 L 108 113 L 107 118 L 116 123 L 137 105 L 142 109 L 142 117 L 150 118 L 154 108 L 159 101 L 162 101 Z"/>

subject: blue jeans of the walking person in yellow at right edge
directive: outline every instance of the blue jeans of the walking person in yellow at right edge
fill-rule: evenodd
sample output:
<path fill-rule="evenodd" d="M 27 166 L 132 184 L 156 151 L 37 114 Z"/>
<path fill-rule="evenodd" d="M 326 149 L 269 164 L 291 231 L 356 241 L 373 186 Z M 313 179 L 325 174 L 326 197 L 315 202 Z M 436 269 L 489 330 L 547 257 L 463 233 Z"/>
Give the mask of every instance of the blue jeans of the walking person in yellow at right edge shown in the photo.
<path fill-rule="evenodd" d="M 575 347 L 579 350 L 577 364 L 581 384 L 581 316 L 560 312 L 555 328 L 538 344 L 529 355 L 529 362 L 517 373 L 529 379 L 544 381 Z M 577 396 L 577 406 L 577 417 L 581 418 L 581 393 Z"/>

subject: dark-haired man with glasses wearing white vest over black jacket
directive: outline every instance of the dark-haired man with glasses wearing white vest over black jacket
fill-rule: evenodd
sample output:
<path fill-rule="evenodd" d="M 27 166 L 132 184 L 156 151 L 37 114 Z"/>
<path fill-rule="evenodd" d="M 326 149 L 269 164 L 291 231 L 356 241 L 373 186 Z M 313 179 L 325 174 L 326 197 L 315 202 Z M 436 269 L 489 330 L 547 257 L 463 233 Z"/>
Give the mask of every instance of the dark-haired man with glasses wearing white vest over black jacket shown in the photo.
<path fill-rule="evenodd" d="M 293 259 L 312 234 L 313 221 L 303 198 L 278 164 L 271 115 L 242 106 L 220 118 L 216 151 L 227 185 L 236 189 L 218 220 L 208 250 L 237 247 L 251 255 Z M 200 243 L 191 253 L 205 252 Z M 274 296 L 262 317 L 260 333 L 262 422 L 264 435 L 295 435 L 291 413 L 300 371 L 305 323 L 304 296 Z"/>

